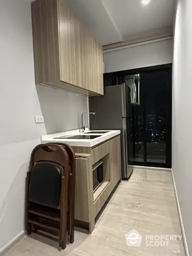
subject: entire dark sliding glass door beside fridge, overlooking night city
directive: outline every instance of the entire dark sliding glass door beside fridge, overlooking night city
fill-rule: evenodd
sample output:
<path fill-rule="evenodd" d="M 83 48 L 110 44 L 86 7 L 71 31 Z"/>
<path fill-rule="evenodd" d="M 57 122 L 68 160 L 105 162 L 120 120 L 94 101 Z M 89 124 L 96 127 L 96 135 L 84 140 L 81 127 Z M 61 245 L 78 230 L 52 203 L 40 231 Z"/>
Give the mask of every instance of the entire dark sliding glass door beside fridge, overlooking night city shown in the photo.
<path fill-rule="evenodd" d="M 135 93 L 139 94 L 140 102 L 129 104 L 130 164 L 171 167 L 170 72 L 170 68 L 162 68 L 138 75 L 140 86 Z M 125 76 L 129 87 L 132 86 L 130 77 Z"/>

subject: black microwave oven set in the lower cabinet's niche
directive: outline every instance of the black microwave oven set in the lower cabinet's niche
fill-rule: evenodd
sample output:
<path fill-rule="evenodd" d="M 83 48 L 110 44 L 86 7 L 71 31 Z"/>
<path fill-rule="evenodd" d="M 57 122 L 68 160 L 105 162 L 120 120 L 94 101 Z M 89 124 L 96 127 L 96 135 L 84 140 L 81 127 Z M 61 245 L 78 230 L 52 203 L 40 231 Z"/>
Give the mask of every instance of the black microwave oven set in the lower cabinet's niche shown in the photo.
<path fill-rule="evenodd" d="M 93 190 L 103 183 L 103 161 L 98 161 L 93 165 Z"/>

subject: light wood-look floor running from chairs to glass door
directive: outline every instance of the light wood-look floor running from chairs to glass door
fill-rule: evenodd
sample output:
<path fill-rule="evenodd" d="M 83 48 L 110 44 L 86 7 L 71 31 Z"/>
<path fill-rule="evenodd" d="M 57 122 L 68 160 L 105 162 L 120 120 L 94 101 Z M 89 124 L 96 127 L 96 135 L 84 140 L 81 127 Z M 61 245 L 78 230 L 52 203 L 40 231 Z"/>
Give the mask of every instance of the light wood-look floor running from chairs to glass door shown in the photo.
<path fill-rule="evenodd" d="M 125 234 L 142 236 L 140 247 L 129 247 Z M 92 235 L 75 232 L 75 243 L 58 251 L 57 243 L 37 235 L 25 237 L 6 256 L 184 256 L 182 241 L 146 247 L 145 235 L 181 235 L 171 172 L 134 170 L 122 182 L 96 223 Z M 44 242 L 44 243 L 43 243 Z"/>

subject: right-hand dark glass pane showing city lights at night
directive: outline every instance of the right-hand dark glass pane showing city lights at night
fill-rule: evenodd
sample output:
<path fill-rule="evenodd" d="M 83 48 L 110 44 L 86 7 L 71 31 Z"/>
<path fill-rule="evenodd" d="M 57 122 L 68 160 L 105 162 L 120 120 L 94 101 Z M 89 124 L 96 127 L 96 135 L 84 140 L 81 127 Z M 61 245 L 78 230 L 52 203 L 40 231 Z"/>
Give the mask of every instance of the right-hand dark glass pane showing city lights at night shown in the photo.
<path fill-rule="evenodd" d="M 149 163 L 167 163 L 169 136 L 169 72 L 143 73 L 145 154 Z"/>

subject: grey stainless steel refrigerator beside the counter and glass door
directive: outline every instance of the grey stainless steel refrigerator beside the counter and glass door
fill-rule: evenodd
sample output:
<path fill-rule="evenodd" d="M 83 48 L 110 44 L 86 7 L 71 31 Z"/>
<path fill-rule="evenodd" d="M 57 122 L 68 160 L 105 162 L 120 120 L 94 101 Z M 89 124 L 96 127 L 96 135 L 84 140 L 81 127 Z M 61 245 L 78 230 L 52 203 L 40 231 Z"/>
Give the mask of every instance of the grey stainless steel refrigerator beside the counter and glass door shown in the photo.
<path fill-rule="evenodd" d="M 131 91 L 129 86 L 112 85 L 104 87 L 104 96 L 89 98 L 89 111 L 96 112 L 90 116 L 91 130 L 120 130 L 121 134 L 121 177 L 128 179 L 132 173 L 128 166 L 128 156 L 132 154 L 129 147 L 128 115 L 131 111 Z"/>

